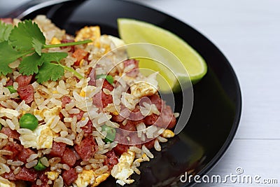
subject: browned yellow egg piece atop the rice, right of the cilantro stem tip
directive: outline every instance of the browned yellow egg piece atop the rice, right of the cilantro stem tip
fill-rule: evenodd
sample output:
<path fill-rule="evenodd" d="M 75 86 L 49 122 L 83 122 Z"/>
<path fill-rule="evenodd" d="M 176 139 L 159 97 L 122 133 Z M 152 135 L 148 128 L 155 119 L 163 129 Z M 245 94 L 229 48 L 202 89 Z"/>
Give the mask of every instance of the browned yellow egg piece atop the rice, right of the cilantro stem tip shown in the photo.
<path fill-rule="evenodd" d="M 99 26 L 91 26 L 91 27 L 83 27 L 76 34 L 75 41 L 83 41 L 86 39 L 91 39 L 93 41 L 94 46 L 99 46 L 100 43 L 98 39 L 100 38 L 100 27 Z M 92 43 L 89 43 L 92 44 Z"/>

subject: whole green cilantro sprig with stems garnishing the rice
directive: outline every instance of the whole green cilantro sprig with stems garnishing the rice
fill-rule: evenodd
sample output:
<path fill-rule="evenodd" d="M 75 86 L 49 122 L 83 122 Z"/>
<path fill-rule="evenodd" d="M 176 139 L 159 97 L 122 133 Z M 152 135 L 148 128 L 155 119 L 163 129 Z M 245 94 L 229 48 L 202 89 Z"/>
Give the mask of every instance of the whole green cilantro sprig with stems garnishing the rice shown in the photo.
<path fill-rule="evenodd" d="M 71 67 L 60 63 L 67 57 L 67 53 L 44 53 L 45 48 L 59 48 L 63 46 L 75 46 L 90 43 L 91 40 L 45 44 L 45 36 L 38 25 L 31 20 L 18 23 L 18 27 L 7 25 L 0 21 L 0 74 L 6 76 L 12 73 L 9 64 L 22 58 L 18 67 L 20 74 L 36 74 L 38 83 L 45 81 L 57 81 L 64 75 L 64 70 L 71 71 L 77 78 L 83 78 Z"/>

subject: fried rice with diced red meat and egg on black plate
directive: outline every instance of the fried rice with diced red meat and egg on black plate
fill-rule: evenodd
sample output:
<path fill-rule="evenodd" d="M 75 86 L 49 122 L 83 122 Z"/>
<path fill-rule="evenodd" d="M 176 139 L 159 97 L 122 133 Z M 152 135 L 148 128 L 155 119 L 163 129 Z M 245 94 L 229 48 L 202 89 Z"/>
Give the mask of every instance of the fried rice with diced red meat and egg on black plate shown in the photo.
<path fill-rule="evenodd" d="M 19 73 L 20 60 L 10 64 L 12 74 L 1 76 L 0 186 L 98 186 L 109 176 L 122 186 L 133 183 L 131 175 L 141 174 L 141 162 L 154 158 L 151 149 L 161 151 L 160 144 L 174 137 L 177 114 L 160 99 L 156 73 L 143 76 L 137 60 L 112 52 L 125 43 L 101 35 L 98 26 L 71 36 L 44 15 L 34 22 L 47 44 L 92 43 L 48 49 L 68 53 L 60 63 L 82 79 L 65 71 L 58 81 L 39 84 Z M 113 83 L 97 78 L 102 74 L 111 75 Z M 29 86 L 31 94 L 10 93 L 8 85 Z M 20 127 L 25 113 L 38 119 L 35 130 Z M 104 125 L 116 130 L 113 141 L 104 141 L 109 133 Z M 43 171 L 34 169 L 39 161 Z"/>

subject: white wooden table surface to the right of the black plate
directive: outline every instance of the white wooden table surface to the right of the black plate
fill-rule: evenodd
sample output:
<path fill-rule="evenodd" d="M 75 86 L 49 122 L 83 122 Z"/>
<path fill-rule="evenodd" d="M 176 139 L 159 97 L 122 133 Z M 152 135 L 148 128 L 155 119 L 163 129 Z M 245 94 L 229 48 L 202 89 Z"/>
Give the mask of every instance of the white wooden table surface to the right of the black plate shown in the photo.
<path fill-rule="evenodd" d="M 208 174 L 277 179 L 278 184 L 197 186 L 280 186 L 280 1 L 131 0 L 186 22 L 228 57 L 241 85 L 242 116 L 230 148 Z"/>

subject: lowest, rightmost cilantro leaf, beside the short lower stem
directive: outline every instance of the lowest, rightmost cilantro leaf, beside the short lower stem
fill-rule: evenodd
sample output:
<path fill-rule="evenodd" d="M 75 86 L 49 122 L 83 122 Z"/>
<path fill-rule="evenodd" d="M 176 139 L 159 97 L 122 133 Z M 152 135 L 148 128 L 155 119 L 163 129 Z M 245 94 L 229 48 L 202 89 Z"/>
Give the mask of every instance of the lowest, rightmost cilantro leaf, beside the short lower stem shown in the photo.
<path fill-rule="evenodd" d="M 64 76 L 63 67 L 59 66 L 59 64 L 44 62 L 35 78 L 37 78 L 38 83 L 43 83 L 49 80 L 57 81 L 62 76 Z"/>

